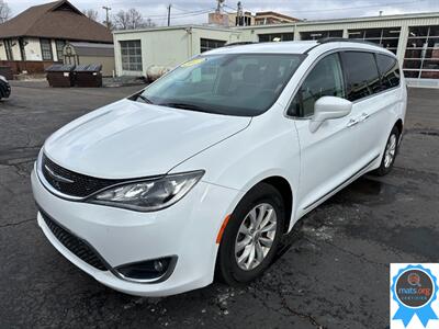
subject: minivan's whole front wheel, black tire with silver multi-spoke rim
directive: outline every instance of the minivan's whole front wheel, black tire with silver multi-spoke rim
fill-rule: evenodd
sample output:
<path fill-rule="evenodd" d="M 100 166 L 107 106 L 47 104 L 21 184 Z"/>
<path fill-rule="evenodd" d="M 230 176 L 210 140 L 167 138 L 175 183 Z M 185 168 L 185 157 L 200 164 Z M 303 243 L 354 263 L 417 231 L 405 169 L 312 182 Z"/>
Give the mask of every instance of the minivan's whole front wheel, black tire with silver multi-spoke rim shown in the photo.
<path fill-rule="evenodd" d="M 260 214 L 263 216 L 259 217 Z M 261 219 L 259 229 L 255 229 L 258 219 Z M 244 284 L 260 276 L 273 260 L 284 223 L 285 209 L 280 192 L 267 183 L 252 188 L 236 206 L 224 230 L 216 260 L 216 276 L 229 285 Z M 247 234 L 240 232 L 244 230 Z M 269 240 L 271 247 L 267 247 Z M 235 248 L 238 243 L 247 246 L 237 252 Z M 247 258 L 245 252 L 249 253 Z M 251 253 L 255 258 L 252 262 Z M 247 261 L 239 263 L 239 258 Z"/>

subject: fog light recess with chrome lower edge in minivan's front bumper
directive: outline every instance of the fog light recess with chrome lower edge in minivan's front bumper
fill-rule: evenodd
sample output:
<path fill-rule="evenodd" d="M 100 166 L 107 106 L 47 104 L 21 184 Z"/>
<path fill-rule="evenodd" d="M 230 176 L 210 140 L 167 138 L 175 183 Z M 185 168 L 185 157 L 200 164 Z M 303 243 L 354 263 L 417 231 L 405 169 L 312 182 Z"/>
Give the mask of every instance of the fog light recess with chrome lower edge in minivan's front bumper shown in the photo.
<path fill-rule="evenodd" d="M 124 264 L 115 268 L 123 279 L 131 281 L 158 281 L 169 277 L 177 262 L 177 257 L 166 257 L 155 260 Z"/>

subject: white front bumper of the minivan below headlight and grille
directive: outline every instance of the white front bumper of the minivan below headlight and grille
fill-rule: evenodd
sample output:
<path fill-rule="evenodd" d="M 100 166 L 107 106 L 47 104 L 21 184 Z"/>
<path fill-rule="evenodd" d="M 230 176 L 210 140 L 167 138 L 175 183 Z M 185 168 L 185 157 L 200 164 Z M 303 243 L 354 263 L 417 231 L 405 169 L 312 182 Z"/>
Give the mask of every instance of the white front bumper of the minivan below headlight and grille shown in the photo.
<path fill-rule="evenodd" d="M 63 200 L 48 192 L 32 172 L 32 189 L 46 215 L 87 241 L 109 268 L 176 256 L 169 277 L 137 283 L 99 270 L 67 249 L 38 213 L 38 225 L 52 245 L 78 268 L 114 290 L 139 296 L 167 296 L 212 283 L 217 252 L 216 236 L 241 192 L 199 182 L 169 208 L 139 213 Z"/>

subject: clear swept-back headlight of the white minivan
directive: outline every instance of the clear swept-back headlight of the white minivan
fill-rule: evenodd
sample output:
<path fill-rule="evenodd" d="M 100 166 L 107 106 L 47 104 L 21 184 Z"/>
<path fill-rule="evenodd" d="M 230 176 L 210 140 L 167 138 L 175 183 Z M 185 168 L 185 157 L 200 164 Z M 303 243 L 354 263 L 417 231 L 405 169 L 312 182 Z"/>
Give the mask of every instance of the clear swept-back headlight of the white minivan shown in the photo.
<path fill-rule="evenodd" d="M 181 200 L 203 174 L 201 170 L 121 184 L 94 195 L 90 202 L 139 212 L 159 211 Z"/>

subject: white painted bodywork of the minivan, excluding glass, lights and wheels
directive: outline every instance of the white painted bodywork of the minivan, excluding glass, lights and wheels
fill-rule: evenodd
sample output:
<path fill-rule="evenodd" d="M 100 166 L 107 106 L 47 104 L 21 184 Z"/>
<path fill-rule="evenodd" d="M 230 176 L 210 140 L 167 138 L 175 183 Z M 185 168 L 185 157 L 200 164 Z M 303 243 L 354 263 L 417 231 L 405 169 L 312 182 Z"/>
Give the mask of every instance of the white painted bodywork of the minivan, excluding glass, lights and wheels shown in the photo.
<path fill-rule="evenodd" d="M 252 186 L 273 177 L 288 182 L 293 197 L 290 230 L 303 215 L 380 166 L 392 127 L 397 121 L 404 123 L 407 92 L 403 77 L 399 87 L 353 102 L 349 115 L 324 122 L 315 133 L 309 131 L 311 118 L 285 114 L 316 60 L 346 49 L 394 56 L 375 46 L 347 42 L 224 47 L 207 54 L 307 56 L 275 103 L 255 117 L 123 100 L 74 121 L 46 140 L 43 151 L 49 159 L 90 177 L 133 179 L 205 170 L 182 200 L 150 213 L 65 200 L 49 192 L 36 167 L 32 173 L 37 205 L 91 243 L 110 266 L 178 256 L 176 269 L 166 281 L 134 283 L 94 269 L 65 248 L 38 214 L 44 234 L 72 263 L 124 293 L 166 296 L 212 283 L 223 222 Z M 358 124 L 349 126 L 351 120 Z"/>

